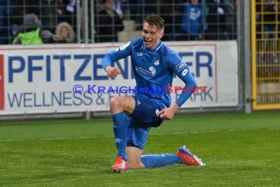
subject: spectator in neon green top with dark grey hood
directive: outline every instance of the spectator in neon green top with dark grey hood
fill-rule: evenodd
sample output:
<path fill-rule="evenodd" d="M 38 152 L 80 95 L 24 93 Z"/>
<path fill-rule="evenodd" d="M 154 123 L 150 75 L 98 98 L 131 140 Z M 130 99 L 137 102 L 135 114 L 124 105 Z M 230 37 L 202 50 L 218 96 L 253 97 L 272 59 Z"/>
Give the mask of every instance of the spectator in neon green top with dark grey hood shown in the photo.
<path fill-rule="evenodd" d="M 35 14 L 24 15 L 24 31 L 20 31 L 12 43 L 23 45 L 42 44 L 41 26 L 42 22 Z"/>

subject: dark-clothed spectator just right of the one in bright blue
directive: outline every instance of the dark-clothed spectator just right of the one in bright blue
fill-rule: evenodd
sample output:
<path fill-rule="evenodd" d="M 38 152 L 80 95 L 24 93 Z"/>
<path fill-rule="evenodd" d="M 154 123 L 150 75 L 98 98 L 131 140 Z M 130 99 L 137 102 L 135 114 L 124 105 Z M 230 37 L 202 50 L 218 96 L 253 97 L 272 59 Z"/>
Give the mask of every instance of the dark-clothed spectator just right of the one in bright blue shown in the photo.
<path fill-rule="evenodd" d="M 222 8 L 223 0 L 206 0 L 209 9 L 207 15 L 208 28 L 205 31 L 206 40 L 220 40 L 224 34 L 225 16 Z"/>

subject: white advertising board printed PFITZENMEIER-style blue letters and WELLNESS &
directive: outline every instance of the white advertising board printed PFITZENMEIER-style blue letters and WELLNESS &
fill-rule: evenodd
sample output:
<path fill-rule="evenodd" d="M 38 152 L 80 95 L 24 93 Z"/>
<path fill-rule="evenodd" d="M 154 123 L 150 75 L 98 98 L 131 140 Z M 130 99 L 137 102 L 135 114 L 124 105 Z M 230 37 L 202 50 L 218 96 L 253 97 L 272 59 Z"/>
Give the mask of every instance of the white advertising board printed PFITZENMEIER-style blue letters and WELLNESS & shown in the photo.
<path fill-rule="evenodd" d="M 181 108 L 238 105 L 236 41 L 165 43 L 203 88 Z M 121 44 L 0 46 L 0 114 L 109 111 L 112 96 L 131 95 L 135 87 L 130 57 L 115 62 L 122 70 L 116 79 L 101 66 Z M 173 86 L 184 84 L 174 77 Z M 172 92 L 172 102 L 180 92 Z"/>

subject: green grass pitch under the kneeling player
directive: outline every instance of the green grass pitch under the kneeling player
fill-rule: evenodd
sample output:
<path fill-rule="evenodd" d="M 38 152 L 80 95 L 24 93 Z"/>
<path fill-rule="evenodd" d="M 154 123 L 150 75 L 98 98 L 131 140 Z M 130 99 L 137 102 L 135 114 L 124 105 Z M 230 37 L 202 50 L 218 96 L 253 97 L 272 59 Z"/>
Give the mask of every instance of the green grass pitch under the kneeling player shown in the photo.
<path fill-rule="evenodd" d="M 206 165 L 118 174 L 110 118 L 0 122 L 0 186 L 280 186 L 280 112 L 176 115 L 151 129 L 143 154 L 182 145 Z"/>

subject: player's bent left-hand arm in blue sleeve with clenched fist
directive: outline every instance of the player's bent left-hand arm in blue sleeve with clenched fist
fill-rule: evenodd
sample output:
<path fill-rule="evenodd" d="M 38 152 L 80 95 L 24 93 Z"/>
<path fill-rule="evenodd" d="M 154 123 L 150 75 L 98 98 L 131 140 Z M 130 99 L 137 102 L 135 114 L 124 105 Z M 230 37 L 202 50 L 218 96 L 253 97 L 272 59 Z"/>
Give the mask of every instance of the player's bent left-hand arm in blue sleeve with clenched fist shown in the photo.
<path fill-rule="evenodd" d="M 121 74 L 121 71 L 118 67 L 113 67 L 113 62 L 116 62 L 120 59 L 124 59 L 130 55 L 132 42 L 128 42 L 116 50 L 113 50 L 107 53 L 101 60 L 101 65 L 104 70 L 107 72 L 108 76 L 111 78 L 117 77 Z"/>

